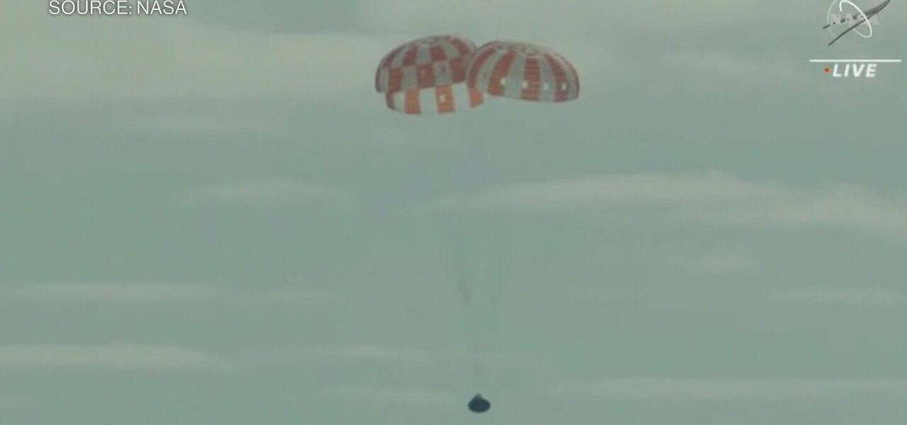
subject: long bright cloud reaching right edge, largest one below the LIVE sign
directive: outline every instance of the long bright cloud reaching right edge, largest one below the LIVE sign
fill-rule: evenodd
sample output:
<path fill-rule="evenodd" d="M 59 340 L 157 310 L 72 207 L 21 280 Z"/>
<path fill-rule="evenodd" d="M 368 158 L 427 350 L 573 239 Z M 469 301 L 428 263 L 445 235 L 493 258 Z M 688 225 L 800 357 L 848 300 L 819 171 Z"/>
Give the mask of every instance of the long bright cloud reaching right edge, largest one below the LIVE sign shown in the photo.
<path fill-rule="evenodd" d="M 737 179 L 724 172 L 640 173 L 518 184 L 441 208 L 504 208 L 530 213 L 603 213 L 630 208 L 667 212 L 686 223 L 732 227 L 826 227 L 907 237 L 907 205 L 869 188 L 797 188 Z"/>

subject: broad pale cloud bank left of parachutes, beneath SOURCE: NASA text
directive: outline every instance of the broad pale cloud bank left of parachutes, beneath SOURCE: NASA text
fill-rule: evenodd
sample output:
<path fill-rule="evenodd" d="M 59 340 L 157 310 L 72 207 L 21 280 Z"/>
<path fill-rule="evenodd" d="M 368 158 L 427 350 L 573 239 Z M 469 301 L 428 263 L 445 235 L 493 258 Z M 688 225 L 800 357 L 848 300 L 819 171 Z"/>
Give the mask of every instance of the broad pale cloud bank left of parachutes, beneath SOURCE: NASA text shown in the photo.
<path fill-rule="evenodd" d="M 0 100 L 349 102 L 375 94 L 373 72 L 388 44 L 366 34 L 231 31 L 182 16 L 51 16 L 46 5 L 5 2 L 0 79 L 16 83 L 0 86 Z"/>

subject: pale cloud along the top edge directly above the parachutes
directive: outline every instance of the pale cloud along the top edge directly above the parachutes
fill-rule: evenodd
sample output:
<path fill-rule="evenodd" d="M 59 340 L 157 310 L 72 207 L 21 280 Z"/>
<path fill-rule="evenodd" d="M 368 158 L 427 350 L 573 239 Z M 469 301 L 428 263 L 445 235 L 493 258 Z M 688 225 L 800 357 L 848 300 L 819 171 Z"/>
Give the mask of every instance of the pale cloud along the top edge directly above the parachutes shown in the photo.
<path fill-rule="evenodd" d="M 626 4 L 600 0 L 531 4 L 519 0 L 386 0 L 365 5 L 364 20 L 383 30 L 459 30 L 483 34 L 485 38 L 589 38 L 658 27 L 702 28 L 755 20 L 766 14 L 765 5 L 756 0 L 707 0 L 696 4 L 669 0 Z"/>

